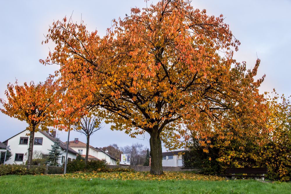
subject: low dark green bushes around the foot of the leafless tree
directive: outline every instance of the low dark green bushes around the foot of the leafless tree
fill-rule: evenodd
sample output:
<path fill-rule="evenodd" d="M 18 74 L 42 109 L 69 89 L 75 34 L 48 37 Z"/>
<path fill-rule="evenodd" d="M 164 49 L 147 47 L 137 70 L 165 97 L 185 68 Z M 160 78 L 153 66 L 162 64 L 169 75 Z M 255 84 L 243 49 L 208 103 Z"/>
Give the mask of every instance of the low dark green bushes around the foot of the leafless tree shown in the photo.
<path fill-rule="evenodd" d="M 105 171 L 107 169 L 107 165 L 103 161 L 92 160 L 88 161 L 87 168 L 85 166 L 84 160 L 72 160 L 67 163 L 67 172 L 78 172 L 78 171 Z"/>

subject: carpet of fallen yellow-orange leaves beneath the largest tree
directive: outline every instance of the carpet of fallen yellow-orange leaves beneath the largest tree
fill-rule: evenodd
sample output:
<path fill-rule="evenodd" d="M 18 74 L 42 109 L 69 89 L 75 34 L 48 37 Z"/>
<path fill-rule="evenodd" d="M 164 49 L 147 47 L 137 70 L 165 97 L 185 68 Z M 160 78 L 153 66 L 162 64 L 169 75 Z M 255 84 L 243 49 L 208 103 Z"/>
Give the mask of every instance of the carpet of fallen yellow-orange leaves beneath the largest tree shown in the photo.
<path fill-rule="evenodd" d="M 107 180 L 205 180 L 221 181 L 222 177 L 200 175 L 189 172 L 164 172 L 163 175 L 151 175 L 148 172 L 92 172 L 92 173 L 73 173 L 66 175 L 49 175 L 51 177 L 81 178 L 81 179 L 107 179 Z"/>

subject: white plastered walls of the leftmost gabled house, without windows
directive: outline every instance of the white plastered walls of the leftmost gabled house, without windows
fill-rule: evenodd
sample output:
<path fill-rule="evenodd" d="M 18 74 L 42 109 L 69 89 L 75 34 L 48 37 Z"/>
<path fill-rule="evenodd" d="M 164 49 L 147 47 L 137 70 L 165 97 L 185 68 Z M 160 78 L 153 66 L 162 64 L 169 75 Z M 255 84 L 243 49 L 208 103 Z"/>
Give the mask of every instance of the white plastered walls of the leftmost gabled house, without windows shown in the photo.
<path fill-rule="evenodd" d="M 8 140 L 7 145 L 10 145 L 10 149 L 11 149 L 10 152 L 12 153 L 12 156 L 8 161 L 5 162 L 6 164 L 14 164 L 14 163 L 24 164 L 26 162 L 27 157 L 28 157 L 29 139 L 28 139 L 28 143 L 25 145 L 19 144 L 19 143 L 20 143 L 20 137 L 28 137 L 26 136 L 27 133 L 28 131 L 23 131 L 22 133 Z M 43 154 L 48 154 L 49 149 L 52 149 L 52 145 L 54 144 L 54 142 L 40 132 L 36 132 L 34 134 L 34 138 L 42 138 L 42 145 L 33 145 L 33 151 L 37 150 L 37 151 L 41 151 Z M 23 161 L 15 161 L 15 154 L 24 154 Z M 62 156 L 65 156 L 65 155 L 66 153 L 63 150 Z M 72 154 L 68 152 L 68 157 L 75 159 L 76 154 Z M 59 163 L 61 163 L 61 158 L 59 160 Z"/>

